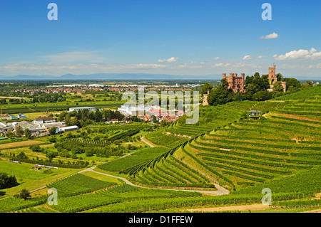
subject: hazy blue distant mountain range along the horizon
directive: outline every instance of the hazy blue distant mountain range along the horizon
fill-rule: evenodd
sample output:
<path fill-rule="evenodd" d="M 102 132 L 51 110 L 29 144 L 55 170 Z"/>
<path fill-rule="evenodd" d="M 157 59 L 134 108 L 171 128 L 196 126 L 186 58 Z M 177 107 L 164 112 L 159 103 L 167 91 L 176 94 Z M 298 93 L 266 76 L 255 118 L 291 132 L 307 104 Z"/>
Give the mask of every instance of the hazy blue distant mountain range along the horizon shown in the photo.
<path fill-rule="evenodd" d="M 284 76 L 285 78 L 287 76 Z M 321 80 L 321 78 L 295 77 L 297 80 Z M 0 80 L 221 80 L 222 75 L 168 75 L 148 73 L 96 73 L 73 75 L 0 75 Z"/>

